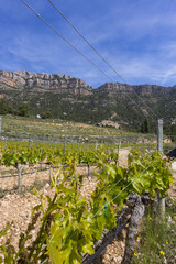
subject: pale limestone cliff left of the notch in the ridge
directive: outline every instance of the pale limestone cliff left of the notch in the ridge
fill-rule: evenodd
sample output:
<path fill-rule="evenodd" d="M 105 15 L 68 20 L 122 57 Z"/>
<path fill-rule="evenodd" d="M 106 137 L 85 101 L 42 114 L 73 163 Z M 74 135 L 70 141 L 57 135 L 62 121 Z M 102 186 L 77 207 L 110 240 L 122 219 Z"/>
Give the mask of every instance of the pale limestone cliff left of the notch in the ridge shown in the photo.
<path fill-rule="evenodd" d="M 0 70 L 0 88 L 52 91 L 53 94 L 92 95 L 92 88 L 81 79 L 64 74 Z"/>

